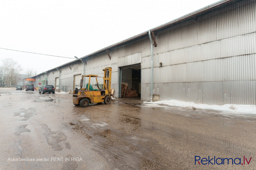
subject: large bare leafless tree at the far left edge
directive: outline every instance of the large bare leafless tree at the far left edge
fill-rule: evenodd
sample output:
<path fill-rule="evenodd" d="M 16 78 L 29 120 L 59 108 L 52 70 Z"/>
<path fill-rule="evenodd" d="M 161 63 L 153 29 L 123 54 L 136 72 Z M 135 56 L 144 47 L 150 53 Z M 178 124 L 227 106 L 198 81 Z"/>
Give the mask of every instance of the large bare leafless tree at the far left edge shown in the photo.
<path fill-rule="evenodd" d="M 16 85 L 21 79 L 19 72 L 22 70 L 21 66 L 12 58 L 3 59 L 3 64 L 0 66 L 0 82 L 2 86 L 8 87 Z"/>

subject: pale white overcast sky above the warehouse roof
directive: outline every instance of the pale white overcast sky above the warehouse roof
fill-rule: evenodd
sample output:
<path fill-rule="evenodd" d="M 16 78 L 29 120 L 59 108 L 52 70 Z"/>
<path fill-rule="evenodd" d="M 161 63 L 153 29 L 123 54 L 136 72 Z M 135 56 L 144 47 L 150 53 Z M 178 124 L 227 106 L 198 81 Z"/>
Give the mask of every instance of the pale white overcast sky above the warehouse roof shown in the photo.
<path fill-rule="evenodd" d="M 55 68 L 216 0 L 0 0 L 0 49 L 23 68 Z"/>

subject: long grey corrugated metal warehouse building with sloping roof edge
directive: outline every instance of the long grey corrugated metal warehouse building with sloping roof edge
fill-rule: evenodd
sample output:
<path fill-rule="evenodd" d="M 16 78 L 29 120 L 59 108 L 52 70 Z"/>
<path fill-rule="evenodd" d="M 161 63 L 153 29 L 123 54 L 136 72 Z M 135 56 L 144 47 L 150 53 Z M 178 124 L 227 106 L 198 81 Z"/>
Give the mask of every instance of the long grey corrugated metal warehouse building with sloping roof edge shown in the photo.
<path fill-rule="evenodd" d="M 222 0 L 38 74 L 34 84 L 73 92 L 81 75 L 112 67 L 118 98 L 123 83 L 143 101 L 256 104 L 255 21 L 256 0 Z"/>

